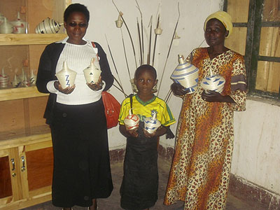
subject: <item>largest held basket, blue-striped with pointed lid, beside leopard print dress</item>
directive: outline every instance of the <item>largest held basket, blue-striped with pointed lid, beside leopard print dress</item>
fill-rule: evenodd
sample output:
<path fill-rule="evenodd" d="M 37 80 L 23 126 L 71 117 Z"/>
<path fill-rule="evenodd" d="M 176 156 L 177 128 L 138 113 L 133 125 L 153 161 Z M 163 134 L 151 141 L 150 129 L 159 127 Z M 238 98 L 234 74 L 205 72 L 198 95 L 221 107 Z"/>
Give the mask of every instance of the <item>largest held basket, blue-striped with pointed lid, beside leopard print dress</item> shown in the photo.
<path fill-rule="evenodd" d="M 179 65 L 173 71 L 171 78 L 175 83 L 179 83 L 183 87 L 186 87 L 185 90 L 188 91 L 188 94 L 193 93 L 197 90 L 198 69 L 193 66 L 193 64 L 184 60 L 183 55 L 178 56 Z"/>

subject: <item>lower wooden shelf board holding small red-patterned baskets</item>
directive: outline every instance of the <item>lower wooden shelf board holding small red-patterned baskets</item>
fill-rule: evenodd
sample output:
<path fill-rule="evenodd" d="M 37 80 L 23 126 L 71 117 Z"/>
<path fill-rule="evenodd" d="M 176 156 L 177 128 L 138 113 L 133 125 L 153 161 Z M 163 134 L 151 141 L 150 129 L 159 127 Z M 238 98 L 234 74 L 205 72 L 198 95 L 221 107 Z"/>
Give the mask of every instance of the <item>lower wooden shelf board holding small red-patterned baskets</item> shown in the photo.
<path fill-rule="evenodd" d="M 37 87 L 15 87 L 9 89 L 0 90 L 0 102 L 15 100 L 15 99 L 26 99 L 32 97 L 43 97 L 48 94 L 38 92 Z"/>

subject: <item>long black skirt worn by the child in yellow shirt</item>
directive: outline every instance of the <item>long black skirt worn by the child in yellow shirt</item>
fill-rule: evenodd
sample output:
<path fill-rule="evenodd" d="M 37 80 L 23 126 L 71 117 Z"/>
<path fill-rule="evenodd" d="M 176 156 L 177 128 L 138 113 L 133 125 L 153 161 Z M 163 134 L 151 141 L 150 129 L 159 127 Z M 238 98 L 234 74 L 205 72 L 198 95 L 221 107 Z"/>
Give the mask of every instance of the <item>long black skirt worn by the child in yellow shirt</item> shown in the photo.
<path fill-rule="evenodd" d="M 158 200 L 157 138 L 127 138 L 120 206 L 140 210 L 153 207 Z"/>

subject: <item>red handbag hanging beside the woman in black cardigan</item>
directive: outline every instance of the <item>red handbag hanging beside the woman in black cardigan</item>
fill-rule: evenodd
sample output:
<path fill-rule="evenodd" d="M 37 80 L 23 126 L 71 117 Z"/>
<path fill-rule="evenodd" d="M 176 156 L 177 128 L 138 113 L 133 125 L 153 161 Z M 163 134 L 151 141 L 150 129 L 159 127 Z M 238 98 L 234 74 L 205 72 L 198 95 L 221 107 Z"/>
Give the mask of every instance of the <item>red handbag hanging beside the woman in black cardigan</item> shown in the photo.
<path fill-rule="evenodd" d="M 118 125 L 118 116 L 120 114 L 120 103 L 109 92 L 102 92 L 102 100 L 107 120 L 107 128 Z"/>

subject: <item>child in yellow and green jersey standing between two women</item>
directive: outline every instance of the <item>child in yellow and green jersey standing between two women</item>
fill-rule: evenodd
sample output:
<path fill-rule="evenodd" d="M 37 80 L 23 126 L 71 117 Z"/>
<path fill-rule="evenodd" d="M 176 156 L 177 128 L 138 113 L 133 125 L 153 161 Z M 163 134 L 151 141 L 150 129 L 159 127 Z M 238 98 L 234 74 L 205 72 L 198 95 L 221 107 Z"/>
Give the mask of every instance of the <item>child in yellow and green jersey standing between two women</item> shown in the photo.
<path fill-rule="evenodd" d="M 123 209 L 148 210 L 158 200 L 157 137 L 165 134 L 175 119 L 167 104 L 152 92 L 158 83 L 153 66 L 139 66 L 134 83 L 139 92 L 132 96 L 132 104 L 130 97 L 123 101 L 119 116 L 120 133 L 127 137 L 120 206 Z M 140 123 L 137 129 L 127 130 L 124 120 L 131 108 L 139 116 Z M 144 118 L 151 117 L 151 111 L 157 112 L 162 124 L 153 134 L 144 129 Z"/>

